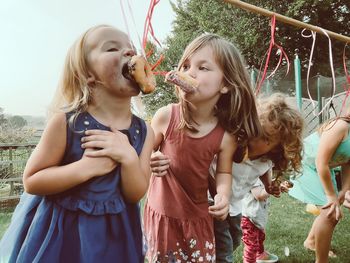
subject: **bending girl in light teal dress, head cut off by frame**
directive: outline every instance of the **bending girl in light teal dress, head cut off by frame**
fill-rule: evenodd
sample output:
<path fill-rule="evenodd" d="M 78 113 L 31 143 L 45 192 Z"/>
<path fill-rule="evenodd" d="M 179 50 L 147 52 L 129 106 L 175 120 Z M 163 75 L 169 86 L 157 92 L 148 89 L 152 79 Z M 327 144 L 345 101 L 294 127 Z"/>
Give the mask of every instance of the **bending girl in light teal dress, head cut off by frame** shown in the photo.
<path fill-rule="evenodd" d="M 289 194 L 302 202 L 323 205 L 304 246 L 316 250 L 316 263 L 328 262 L 333 231 L 343 216 L 341 205 L 350 190 L 350 116 L 332 119 L 304 140 L 303 174 Z M 338 193 L 334 168 L 342 168 Z"/>

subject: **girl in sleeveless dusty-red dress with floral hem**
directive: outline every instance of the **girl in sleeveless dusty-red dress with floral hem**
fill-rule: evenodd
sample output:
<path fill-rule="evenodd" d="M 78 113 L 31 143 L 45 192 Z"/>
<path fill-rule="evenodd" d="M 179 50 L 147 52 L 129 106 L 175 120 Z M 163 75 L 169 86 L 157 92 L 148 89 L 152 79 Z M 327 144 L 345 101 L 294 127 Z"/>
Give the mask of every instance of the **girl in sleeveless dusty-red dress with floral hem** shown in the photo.
<path fill-rule="evenodd" d="M 227 216 L 233 155 L 241 153 L 237 149 L 248 138 L 259 136 L 261 127 L 250 79 L 234 45 L 217 35 L 199 36 L 185 49 L 178 70 L 199 86 L 191 93 L 177 88 L 179 104 L 159 109 L 152 119 L 154 150 L 171 163 L 165 176 L 151 178 L 144 214 L 147 258 L 215 262 L 212 217 Z M 209 166 L 216 154 L 217 194 L 208 207 Z"/>

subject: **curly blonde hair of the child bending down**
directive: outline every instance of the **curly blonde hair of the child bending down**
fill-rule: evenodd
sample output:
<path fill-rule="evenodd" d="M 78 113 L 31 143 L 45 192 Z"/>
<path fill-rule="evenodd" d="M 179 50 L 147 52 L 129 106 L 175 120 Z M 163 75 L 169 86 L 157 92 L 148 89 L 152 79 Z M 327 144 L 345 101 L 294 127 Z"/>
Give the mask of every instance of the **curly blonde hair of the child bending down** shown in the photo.
<path fill-rule="evenodd" d="M 280 144 L 267 154 L 278 172 L 300 172 L 303 151 L 304 119 L 281 93 L 258 99 L 259 119 L 278 131 Z"/>

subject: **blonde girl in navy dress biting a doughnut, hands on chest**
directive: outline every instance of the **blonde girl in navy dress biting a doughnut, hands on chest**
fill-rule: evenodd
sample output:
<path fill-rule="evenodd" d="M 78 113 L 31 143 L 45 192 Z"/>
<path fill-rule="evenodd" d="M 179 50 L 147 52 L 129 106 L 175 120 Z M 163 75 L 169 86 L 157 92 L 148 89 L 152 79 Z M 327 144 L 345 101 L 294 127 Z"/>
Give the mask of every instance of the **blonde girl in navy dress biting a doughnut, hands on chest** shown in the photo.
<path fill-rule="evenodd" d="M 0 262 L 143 262 L 138 201 L 150 177 L 153 131 L 131 112 L 135 55 L 110 26 L 69 50 L 57 109 L 29 158 L 25 194 L 0 241 Z"/>

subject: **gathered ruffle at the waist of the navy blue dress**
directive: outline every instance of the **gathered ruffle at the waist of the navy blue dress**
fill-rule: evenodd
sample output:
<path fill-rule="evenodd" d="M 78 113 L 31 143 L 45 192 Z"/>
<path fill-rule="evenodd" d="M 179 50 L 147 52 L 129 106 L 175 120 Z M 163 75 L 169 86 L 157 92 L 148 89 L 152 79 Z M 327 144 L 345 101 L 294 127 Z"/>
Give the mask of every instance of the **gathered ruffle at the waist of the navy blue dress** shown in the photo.
<path fill-rule="evenodd" d="M 119 214 L 125 209 L 121 197 L 112 200 L 84 200 L 73 196 L 55 199 L 54 202 L 71 211 L 83 211 L 89 215 Z"/>

